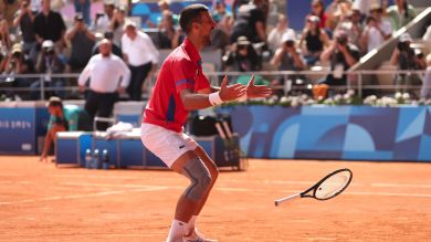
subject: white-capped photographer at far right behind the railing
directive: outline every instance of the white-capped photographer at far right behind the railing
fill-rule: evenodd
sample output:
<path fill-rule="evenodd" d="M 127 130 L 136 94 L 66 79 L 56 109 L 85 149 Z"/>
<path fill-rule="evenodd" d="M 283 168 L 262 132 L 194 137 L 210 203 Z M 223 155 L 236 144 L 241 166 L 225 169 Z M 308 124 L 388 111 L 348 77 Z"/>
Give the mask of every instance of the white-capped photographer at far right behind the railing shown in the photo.
<path fill-rule="evenodd" d="M 397 65 L 399 70 L 424 70 L 427 64 L 423 53 L 412 49 L 411 42 L 409 33 L 401 34 L 390 63 Z M 397 92 L 407 92 L 409 85 L 421 84 L 421 78 L 416 74 L 400 74 L 396 76 L 395 84 Z"/>

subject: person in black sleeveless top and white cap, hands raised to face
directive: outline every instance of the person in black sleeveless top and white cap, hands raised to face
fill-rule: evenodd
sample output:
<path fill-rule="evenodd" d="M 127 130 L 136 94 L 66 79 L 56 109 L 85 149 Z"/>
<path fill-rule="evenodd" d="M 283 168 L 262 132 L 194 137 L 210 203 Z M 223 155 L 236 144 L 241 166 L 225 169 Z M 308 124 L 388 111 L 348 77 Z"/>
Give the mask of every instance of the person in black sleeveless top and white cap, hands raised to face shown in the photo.
<path fill-rule="evenodd" d="M 325 30 L 319 28 L 318 23 L 318 17 L 308 17 L 306 27 L 301 35 L 299 48 L 304 50 L 304 56 L 309 66 L 319 60 L 324 48 L 329 45 L 329 38 Z"/>

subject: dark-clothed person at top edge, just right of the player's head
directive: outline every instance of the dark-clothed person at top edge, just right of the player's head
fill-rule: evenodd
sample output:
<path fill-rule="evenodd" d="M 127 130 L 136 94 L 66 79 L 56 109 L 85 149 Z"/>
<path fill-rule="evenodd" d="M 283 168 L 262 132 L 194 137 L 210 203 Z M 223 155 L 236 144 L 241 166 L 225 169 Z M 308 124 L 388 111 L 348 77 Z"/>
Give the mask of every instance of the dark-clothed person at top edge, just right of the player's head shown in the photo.
<path fill-rule="evenodd" d="M 236 42 L 239 36 L 246 36 L 252 43 L 266 42 L 265 12 L 257 7 L 261 1 L 254 0 L 238 9 L 230 36 L 231 43 Z"/>

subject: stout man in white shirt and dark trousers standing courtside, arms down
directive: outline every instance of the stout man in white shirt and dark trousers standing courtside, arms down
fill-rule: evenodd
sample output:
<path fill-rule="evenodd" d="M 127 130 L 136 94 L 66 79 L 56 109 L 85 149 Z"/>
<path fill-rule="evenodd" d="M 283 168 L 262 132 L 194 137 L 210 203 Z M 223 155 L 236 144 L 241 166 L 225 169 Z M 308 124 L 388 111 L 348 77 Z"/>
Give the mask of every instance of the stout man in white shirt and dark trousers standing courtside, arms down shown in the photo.
<path fill-rule="evenodd" d="M 84 92 L 85 83 L 90 78 L 85 111 L 92 119 L 96 115 L 109 117 L 118 94 L 124 93 L 129 84 L 130 71 L 120 57 L 112 54 L 111 44 L 109 40 L 102 41 L 101 53 L 90 59 L 77 81 L 80 91 Z M 98 130 L 105 130 L 107 127 L 107 124 L 97 124 Z"/>

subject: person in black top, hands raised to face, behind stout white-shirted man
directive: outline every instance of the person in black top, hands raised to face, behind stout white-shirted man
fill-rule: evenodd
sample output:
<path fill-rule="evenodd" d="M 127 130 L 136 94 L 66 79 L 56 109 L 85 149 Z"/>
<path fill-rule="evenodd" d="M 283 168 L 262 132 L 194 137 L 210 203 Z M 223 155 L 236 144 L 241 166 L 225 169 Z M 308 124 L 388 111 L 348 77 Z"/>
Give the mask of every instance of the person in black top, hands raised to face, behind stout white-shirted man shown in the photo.
<path fill-rule="evenodd" d="M 71 72 L 81 72 L 92 57 L 92 50 L 96 36 L 88 30 L 81 13 L 75 15 L 73 28 L 66 33 L 66 41 L 71 43 L 69 66 Z"/>

